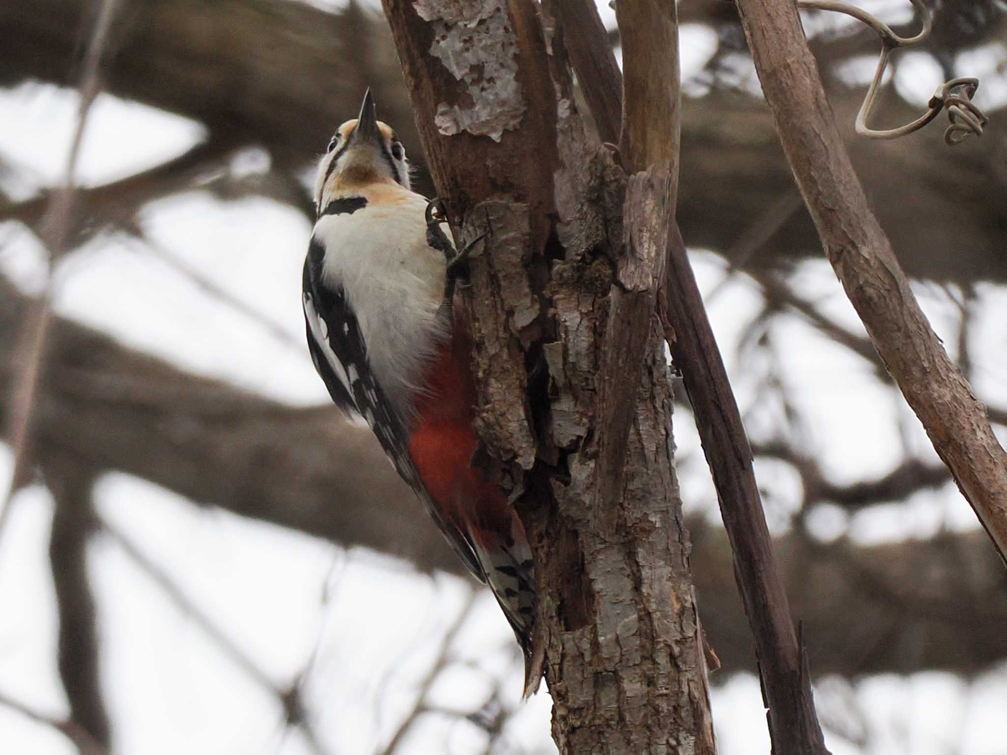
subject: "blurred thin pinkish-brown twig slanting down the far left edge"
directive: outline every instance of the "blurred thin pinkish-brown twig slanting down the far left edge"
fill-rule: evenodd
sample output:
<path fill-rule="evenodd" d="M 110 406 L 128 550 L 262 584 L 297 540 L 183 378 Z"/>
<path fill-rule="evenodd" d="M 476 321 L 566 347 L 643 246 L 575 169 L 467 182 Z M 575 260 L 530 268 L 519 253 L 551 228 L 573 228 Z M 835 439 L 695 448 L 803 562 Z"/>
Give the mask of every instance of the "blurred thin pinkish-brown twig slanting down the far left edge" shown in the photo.
<path fill-rule="evenodd" d="M 53 192 L 42 220 L 41 239 L 48 250 L 49 260 L 46 267 L 44 290 L 41 296 L 29 304 L 15 346 L 17 354 L 15 364 L 18 364 L 19 368 L 11 390 L 7 428 L 7 439 L 14 456 L 14 464 L 7 490 L 0 498 L 0 533 L 3 532 L 10 513 L 11 497 L 26 474 L 26 447 L 31 427 L 31 415 L 34 411 L 42 372 L 42 351 L 45 345 L 45 336 L 52 316 L 52 271 L 62 253 L 69 233 L 77 190 L 75 181 L 81 144 L 88 116 L 91 113 L 91 106 L 101 91 L 99 70 L 119 2 L 120 0 L 103 0 L 101 4 L 84 61 L 81 85 L 78 88 L 80 103 L 77 124 L 74 128 L 69 155 L 66 158 L 63 171 L 62 185 Z"/>

